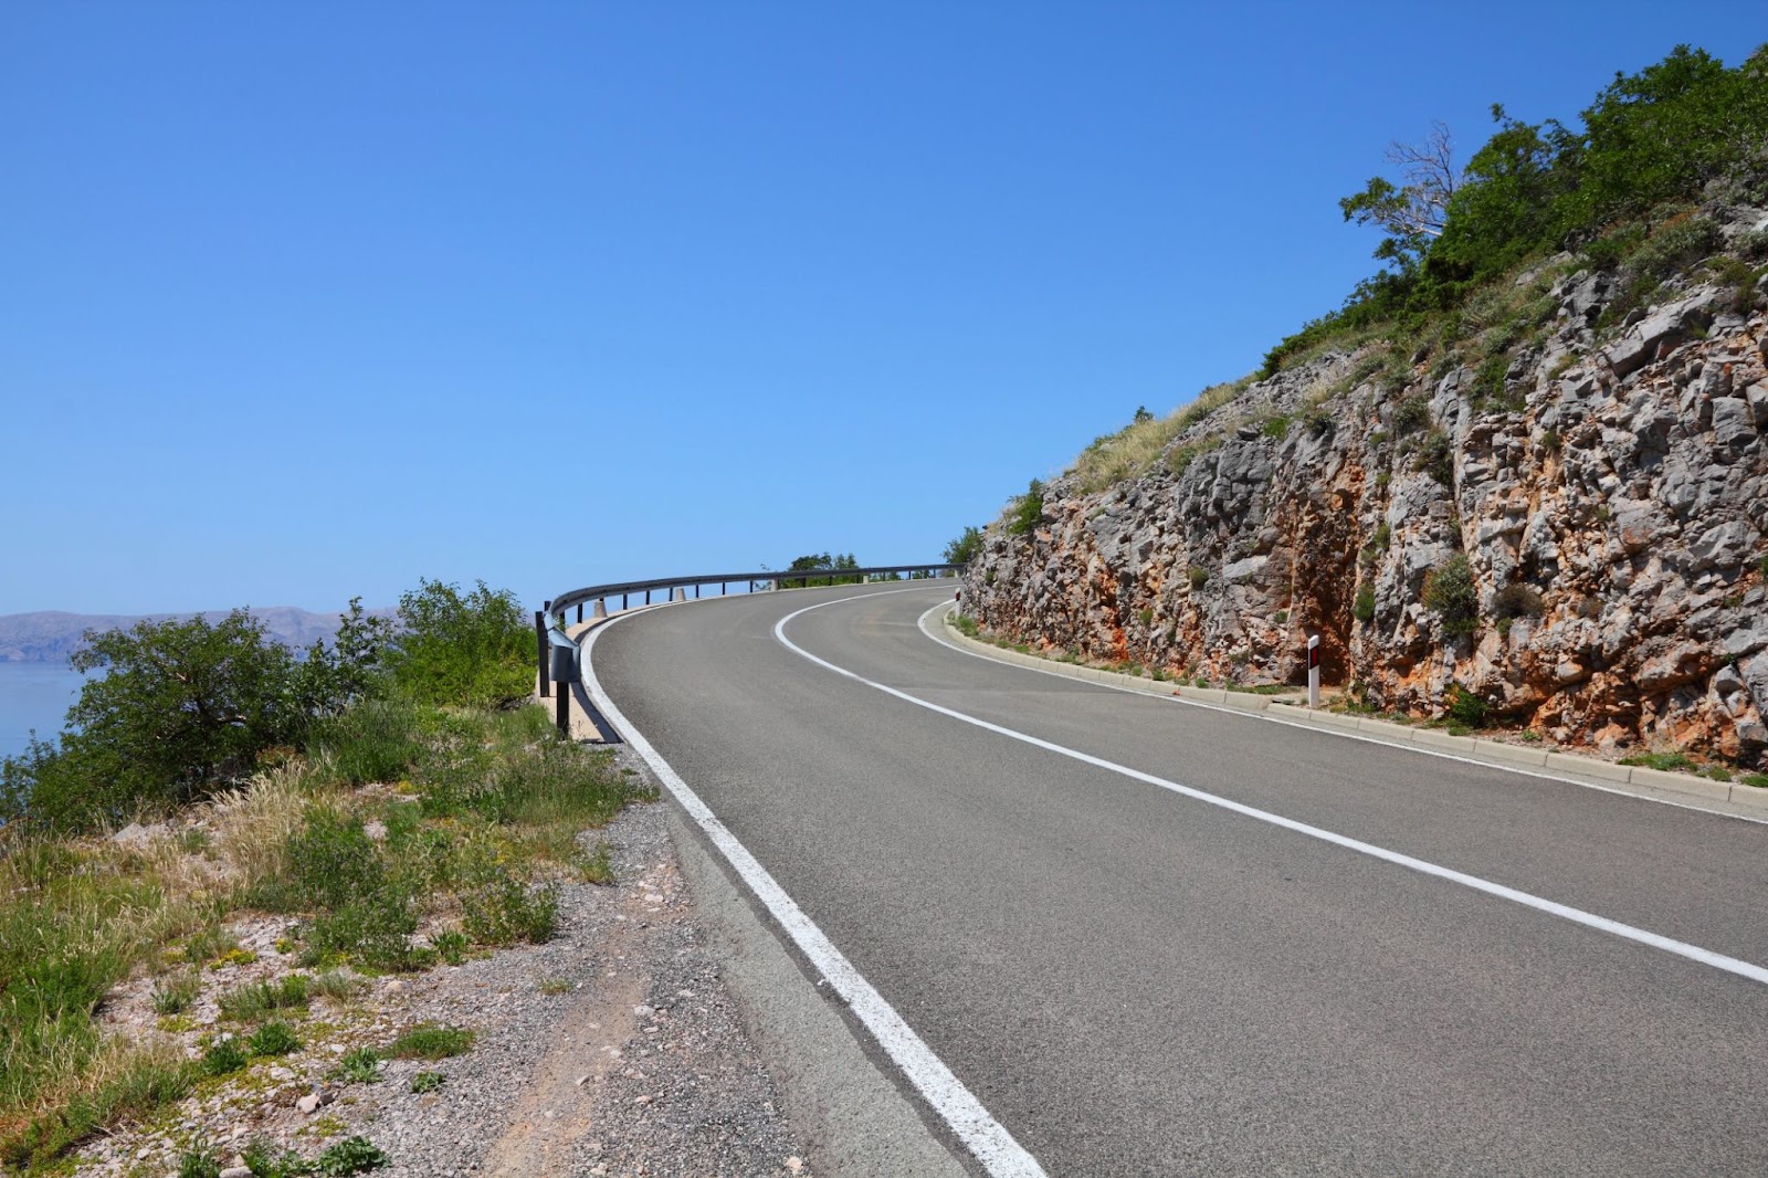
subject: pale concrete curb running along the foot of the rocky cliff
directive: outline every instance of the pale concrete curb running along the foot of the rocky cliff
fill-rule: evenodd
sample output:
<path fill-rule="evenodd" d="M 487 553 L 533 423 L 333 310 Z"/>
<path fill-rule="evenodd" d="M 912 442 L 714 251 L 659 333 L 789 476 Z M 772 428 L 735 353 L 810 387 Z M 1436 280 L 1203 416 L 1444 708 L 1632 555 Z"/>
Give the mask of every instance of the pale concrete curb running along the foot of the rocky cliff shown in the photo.
<path fill-rule="evenodd" d="M 1736 807 L 1736 812 L 1726 808 L 1713 810 L 1713 814 L 1727 814 L 1731 817 L 1759 815 L 1759 819 L 1768 819 L 1768 789 L 1757 789 L 1754 785 L 1715 782 L 1711 778 L 1694 776 L 1692 773 L 1665 773 L 1662 769 L 1646 769 L 1642 766 L 1614 764 L 1612 761 L 1597 761 L 1595 757 L 1552 752 L 1547 748 L 1529 748 L 1526 745 L 1508 745 L 1505 741 L 1492 741 L 1478 736 L 1450 736 L 1441 729 L 1416 729 L 1404 723 L 1393 723 L 1391 720 L 1376 720 L 1374 716 L 1353 716 L 1333 711 L 1308 709 L 1298 704 L 1282 702 L 1269 695 L 1223 692 L 1218 688 L 1193 688 L 1170 681 L 1153 683 L 1149 679 L 1126 676 L 1116 670 L 1100 670 L 1098 667 L 1080 667 L 1077 663 L 1059 663 L 1055 660 L 1043 658 L 1041 654 L 1004 651 L 992 642 L 971 639 L 951 624 L 951 607 L 946 608 L 941 621 L 944 623 L 944 637 L 949 639 L 953 646 L 994 658 L 995 662 L 1034 667 L 1045 674 L 1087 679 L 1126 692 L 1174 699 L 1181 704 L 1262 713 L 1264 718 L 1276 720 L 1280 723 L 1356 732 L 1367 739 L 1376 739 L 1384 745 L 1409 745 L 1420 750 L 1450 753 L 1464 761 L 1490 764 L 1499 769 L 1519 769 L 1531 773 L 1533 776 L 1565 780 L 1574 785 L 1591 785 L 1611 792 L 1650 798 L 1653 801 L 1676 801 L 1678 805 L 1692 805 L 1694 799 L 1713 801 L 1726 807 Z"/>

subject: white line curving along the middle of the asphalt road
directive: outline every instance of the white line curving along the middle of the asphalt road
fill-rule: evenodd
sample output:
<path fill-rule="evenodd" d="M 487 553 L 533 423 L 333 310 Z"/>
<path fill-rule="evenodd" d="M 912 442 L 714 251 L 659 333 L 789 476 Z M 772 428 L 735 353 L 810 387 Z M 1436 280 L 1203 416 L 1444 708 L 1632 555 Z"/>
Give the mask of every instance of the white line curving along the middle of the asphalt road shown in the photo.
<path fill-rule="evenodd" d="M 934 704 L 930 700 L 909 695 L 907 692 L 900 692 L 900 690 L 896 690 L 893 686 L 886 686 L 882 683 L 873 683 L 872 679 L 866 679 L 865 676 L 859 676 L 859 674 L 856 674 L 852 670 L 847 670 L 845 667 L 836 667 L 834 663 L 827 662 L 826 658 L 817 658 L 815 654 L 812 654 L 810 651 L 806 651 L 804 647 L 797 646 L 789 637 L 785 637 L 785 624 L 789 621 L 792 621 L 794 617 L 797 617 L 801 614 L 808 614 L 812 610 L 820 610 L 820 608 L 829 607 L 829 605 L 840 605 L 840 603 L 842 601 L 820 601 L 817 605 L 808 605 L 808 607 L 804 607 L 801 610 L 787 614 L 778 623 L 774 623 L 774 637 L 781 644 L 785 644 L 787 649 L 801 654 L 803 658 L 808 658 L 810 662 L 817 663 L 819 667 L 826 667 L 827 670 L 833 670 L 834 674 L 847 676 L 849 679 L 854 679 L 856 683 L 865 683 L 870 688 L 877 688 L 879 692 L 884 692 L 886 695 L 893 695 L 893 697 L 896 697 L 896 699 L 900 699 L 900 700 L 903 700 L 907 704 L 914 704 L 916 708 L 926 708 L 928 711 L 935 711 L 935 713 L 939 713 L 942 716 L 949 716 L 953 720 L 962 720 L 964 723 L 976 725 L 978 729 L 985 729 L 988 732 L 994 732 L 997 736 L 1004 736 L 1008 739 L 1015 739 L 1015 741 L 1022 741 L 1025 745 L 1033 745 L 1034 748 L 1043 748 L 1045 752 L 1057 753 L 1059 757 L 1068 757 L 1068 759 L 1078 761 L 1082 764 L 1091 764 L 1091 766 L 1094 766 L 1098 769 L 1107 769 L 1110 773 L 1121 773 L 1123 776 L 1133 778 L 1137 782 L 1146 782 L 1147 785 L 1156 785 L 1160 789 L 1167 789 L 1167 791 L 1172 791 L 1172 792 L 1181 794 L 1185 798 L 1192 798 L 1195 801 L 1204 801 L 1204 803 L 1209 803 L 1213 807 L 1220 807 L 1223 810 L 1229 810 L 1232 814 L 1239 814 L 1243 817 L 1257 819 L 1261 822 L 1269 822 L 1271 826 L 1280 826 L 1282 830 L 1294 831 L 1298 835 L 1307 835 L 1308 838 L 1319 838 L 1321 842 L 1330 842 L 1335 847 L 1344 847 L 1345 851 L 1356 851 L 1358 854 L 1367 854 L 1370 858 L 1383 860 L 1384 863 L 1393 863 L 1397 867 L 1406 867 L 1409 870 L 1414 870 L 1414 872 L 1420 872 L 1420 874 L 1425 874 L 1425 876 L 1436 876 L 1437 879 L 1446 879 L 1450 883 L 1462 884 L 1464 888 L 1473 888 L 1475 891 L 1483 891 L 1485 895 L 1492 895 L 1492 897 L 1497 897 L 1501 900 L 1512 900 L 1513 904 L 1522 904 L 1524 907 L 1533 907 L 1535 911 L 1547 913 L 1551 916 L 1559 916 L 1563 920 L 1570 920 L 1572 923 L 1584 925 L 1586 929 L 1597 929 L 1598 932 L 1609 932 L 1612 936 L 1625 937 L 1628 941 L 1637 941 L 1639 945 L 1650 945 L 1651 948 L 1658 948 L 1658 950 L 1664 950 L 1667 953 L 1676 953 L 1678 957 L 1687 957 L 1688 960 L 1697 960 L 1703 966 L 1711 966 L 1715 969 L 1724 969 L 1726 973 L 1734 973 L 1740 978 L 1749 978 L 1752 982 L 1761 982 L 1761 983 L 1768 985 L 1768 969 L 1764 969 L 1761 966 L 1756 966 L 1756 964 L 1750 964 L 1747 960 L 1740 960 L 1736 957 L 1726 957 L 1724 953 L 1715 953 L 1711 950 L 1704 950 L 1699 945 L 1688 945 L 1685 941 L 1676 941 L 1673 937 L 1665 937 L 1665 936 L 1660 936 L 1657 932 L 1648 932 L 1644 929 L 1635 929 L 1632 925 L 1623 925 L 1621 922 L 1609 920 L 1607 916 L 1597 916 L 1595 913 L 1586 913 L 1582 909 L 1570 907 L 1568 904 L 1559 904 L 1556 900 L 1547 900 L 1547 899 L 1542 899 L 1538 895 L 1531 895 L 1528 891 L 1519 891 L 1517 888 L 1506 888 L 1505 884 L 1492 883 L 1490 879 L 1482 879 L 1478 876 L 1469 876 L 1466 872 L 1457 872 L 1455 868 L 1450 868 L 1450 867 L 1439 867 L 1437 863 L 1430 863 L 1427 860 L 1416 860 L 1416 858 L 1413 858 L 1409 854 L 1400 854 L 1398 851 L 1388 851 L 1386 847 L 1377 847 L 1377 845 L 1374 845 L 1370 842 L 1361 842 L 1360 838 L 1349 838 L 1347 835 L 1338 835 L 1335 831 L 1322 830 L 1319 826 L 1308 826 L 1307 822 L 1298 822 L 1296 819 L 1287 819 L 1282 814 L 1271 814 L 1269 810 L 1259 810 L 1257 807 L 1248 807 L 1248 805 L 1239 803 L 1239 801 L 1231 801 L 1229 798 L 1222 798 L 1218 794 L 1204 792 L 1202 789 L 1193 789 L 1192 785 L 1181 785 L 1181 784 L 1170 782 L 1170 780 L 1167 780 L 1163 776 L 1155 776 L 1153 773 L 1144 773 L 1140 769 L 1132 769 L 1126 764 L 1117 764 L 1114 761 L 1105 761 L 1103 757 L 1094 757 L 1093 753 L 1084 753 L 1084 752 L 1080 752 L 1077 748 L 1068 748 L 1066 745 L 1057 745 L 1054 741 L 1047 741 L 1047 739 L 1041 739 L 1038 736 L 1031 736 L 1027 732 L 1018 732 L 1015 729 L 1008 729 L 1008 727 L 1002 727 L 999 723 L 990 723 L 988 720 L 981 720 L 978 716 L 971 716 L 971 715 L 965 715 L 962 711 L 955 711 L 951 708 L 944 708 L 941 704 Z M 941 608 L 941 607 L 934 607 L 934 608 Z M 928 612 L 932 612 L 932 610 L 928 610 Z M 923 614 L 923 617 L 925 617 L 925 614 Z"/>

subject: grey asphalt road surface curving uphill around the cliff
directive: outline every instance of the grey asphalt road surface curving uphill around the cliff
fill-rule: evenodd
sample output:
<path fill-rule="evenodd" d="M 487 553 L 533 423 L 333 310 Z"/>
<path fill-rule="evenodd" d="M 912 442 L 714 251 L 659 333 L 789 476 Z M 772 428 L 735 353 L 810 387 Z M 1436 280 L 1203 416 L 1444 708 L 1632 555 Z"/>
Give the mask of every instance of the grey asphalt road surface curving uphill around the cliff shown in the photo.
<path fill-rule="evenodd" d="M 594 672 L 1050 1174 L 1764 1174 L 1768 985 L 916 708 L 1768 964 L 1768 826 L 992 663 L 833 589 Z M 900 589 L 900 587 L 898 587 Z"/>

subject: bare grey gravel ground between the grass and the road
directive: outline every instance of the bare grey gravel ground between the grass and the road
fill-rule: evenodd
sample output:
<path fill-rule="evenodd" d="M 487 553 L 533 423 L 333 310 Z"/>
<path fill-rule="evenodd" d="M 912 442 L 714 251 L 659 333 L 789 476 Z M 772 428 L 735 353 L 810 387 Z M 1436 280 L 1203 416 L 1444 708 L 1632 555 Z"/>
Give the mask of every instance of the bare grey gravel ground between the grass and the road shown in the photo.
<path fill-rule="evenodd" d="M 302 1051 L 97 1143 L 78 1171 L 161 1178 L 194 1143 L 226 1164 L 253 1136 L 313 1157 L 359 1134 L 387 1153 L 377 1173 L 391 1178 L 810 1174 L 803 1134 L 697 923 L 665 805 L 629 807 L 587 835 L 612 844 L 615 883 L 568 884 L 546 945 L 371 980 L 350 1003 L 315 1003 L 299 1028 Z M 246 923 L 248 937 L 274 939 Z M 334 1075 L 345 1051 L 417 1022 L 472 1028 L 477 1040 L 449 1059 L 391 1059 L 373 1084 Z M 421 1070 L 447 1079 L 415 1095 Z M 302 1113 L 297 1100 L 313 1093 L 325 1104 Z"/>

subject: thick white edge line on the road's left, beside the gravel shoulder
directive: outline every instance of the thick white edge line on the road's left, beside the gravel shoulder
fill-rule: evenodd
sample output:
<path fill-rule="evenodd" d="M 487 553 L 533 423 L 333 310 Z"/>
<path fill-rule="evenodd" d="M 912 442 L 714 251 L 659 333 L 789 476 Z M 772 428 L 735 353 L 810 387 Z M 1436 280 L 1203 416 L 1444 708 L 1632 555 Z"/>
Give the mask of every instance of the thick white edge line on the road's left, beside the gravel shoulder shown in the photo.
<path fill-rule="evenodd" d="M 923 585 L 914 589 L 889 589 L 886 593 L 861 594 L 861 596 L 888 596 L 891 593 L 919 593 L 925 591 Z M 847 600 L 847 598 L 840 598 Z M 831 603 L 824 603 L 831 605 Z M 799 610 L 801 614 L 803 610 Z M 792 614 L 797 617 L 797 614 Z M 700 796 L 688 787 L 688 782 L 670 768 L 668 761 L 651 746 L 651 741 L 633 727 L 633 723 L 621 715 L 621 709 L 613 706 L 608 693 L 601 690 L 601 683 L 596 679 L 594 669 L 591 667 L 591 649 L 596 646 L 596 639 L 605 633 L 610 626 L 622 621 L 621 616 L 596 626 L 583 640 L 582 646 L 582 670 L 583 686 L 589 688 L 589 697 L 596 700 L 596 708 L 606 716 L 631 743 L 651 771 L 658 775 L 670 794 L 681 805 L 688 815 L 698 822 L 700 830 L 705 831 L 713 845 L 718 847 L 720 854 L 730 863 L 730 867 L 743 877 L 743 883 L 750 886 L 755 897 L 767 907 L 767 913 L 780 922 L 785 934 L 792 937 L 792 943 L 801 953 L 810 960 L 817 971 L 827 978 L 834 992 L 847 1001 L 847 1006 L 854 1012 L 854 1017 L 872 1033 L 884 1049 L 884 1054 L 902 1068 L 902 1074 L 914 1084 L 914 1090 L 921 1093 L 921 1098 L 951 1127 L 951 1132 L 958 1136 L 958 1141 L 981 1162 L 994 1178 L 1047 1178 L 1043 1167 L 1038 1160 L 1025 1151 L 1013 1134 L 1006 1130 L 1004 1125 L 994 1120 L 988 1109 L 983 1107 L 981 1100 L 971 1093 L 964 1082 L 953 1075 L 951 1068 L 934 1054 L 919 1035 L 903 1021 L 896 1010 L 884 1001 L 884 996 L 866 982 L 847 957 L 842 955 L 838 948 L 824 936 L 822 929 L 804 914 L 804 911 L 787 895 L 785 888 L 767 872 L 766 867 L 750 854 L 748 847 L 737 840 L 730 830 L 718 821 L 718 815 L 700 801 Z M 790 644 L 787 644 L 790 646 Z M 794 647 L 797 649 L 797 647 Z M 799 651 L 803 653 L 803 651 Z M 847 672 L 843 672 L 847 674 Z"/>

